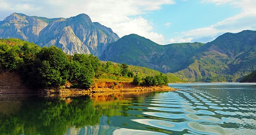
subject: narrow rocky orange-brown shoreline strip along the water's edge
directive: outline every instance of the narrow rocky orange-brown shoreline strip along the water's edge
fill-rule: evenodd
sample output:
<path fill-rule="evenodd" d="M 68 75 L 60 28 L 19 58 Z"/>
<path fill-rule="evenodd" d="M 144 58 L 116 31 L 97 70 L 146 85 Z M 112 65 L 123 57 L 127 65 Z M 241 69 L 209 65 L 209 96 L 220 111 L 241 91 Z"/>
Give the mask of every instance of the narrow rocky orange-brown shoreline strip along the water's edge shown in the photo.
<path fill-rule="evenodd" d="M 0 94 L 39 94 L 46 95 L 47 97 L 74 97 L 81 95 L 96 95 L 96 94 L 115 94 L 115 93 L 134 93 L 134 92 L 154 92 L 154 91 L 173 91 L 176 88 L 168 86 L 136 86 L 131 82 L 94 82 L 88 90 L 81 88 L 44 88 L 30 90 L 23 86 L 4 87 L 0 88 Z"/>

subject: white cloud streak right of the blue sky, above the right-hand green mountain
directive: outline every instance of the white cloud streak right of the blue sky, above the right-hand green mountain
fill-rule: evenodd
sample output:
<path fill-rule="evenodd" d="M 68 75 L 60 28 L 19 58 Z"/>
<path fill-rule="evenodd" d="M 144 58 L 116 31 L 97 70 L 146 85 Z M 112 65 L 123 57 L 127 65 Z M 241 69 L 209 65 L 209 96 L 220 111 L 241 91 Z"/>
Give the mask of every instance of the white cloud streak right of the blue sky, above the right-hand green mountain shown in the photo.
<path fill-rule="evenodd" d="M 170 43 L 180 41 L 198 41 L 206 43 L 214 40 L 217 36 L 220 36 L 223 33 L 238 33 L 242 30 L 256 29 L 255 0 L 201 0 L 201 2 L 216 3 L 216 5 L 229 3 L 234 7 L 242 9 L 242 13 L 226 18 L 225 20 L 208 27 L 182 32 L 181 34 L 183 34 L 183 36 L 170 39 Z"/>

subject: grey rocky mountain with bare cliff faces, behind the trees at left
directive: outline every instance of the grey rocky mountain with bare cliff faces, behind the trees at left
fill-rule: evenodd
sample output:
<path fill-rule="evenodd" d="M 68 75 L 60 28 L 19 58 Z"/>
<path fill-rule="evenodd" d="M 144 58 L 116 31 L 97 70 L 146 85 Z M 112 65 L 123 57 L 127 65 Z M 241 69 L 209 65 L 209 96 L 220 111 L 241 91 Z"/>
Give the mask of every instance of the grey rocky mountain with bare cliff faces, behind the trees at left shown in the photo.
<path fill-rule="evenodd" d="M 70 18 L 45 18 L 13 13 L 0 21 L 0 38 L 20 38 L 41 47 L 55 45 L 67 54 L 101 56 L 118 35 L 111 28 L 93 23 L 86 14 Z"/>

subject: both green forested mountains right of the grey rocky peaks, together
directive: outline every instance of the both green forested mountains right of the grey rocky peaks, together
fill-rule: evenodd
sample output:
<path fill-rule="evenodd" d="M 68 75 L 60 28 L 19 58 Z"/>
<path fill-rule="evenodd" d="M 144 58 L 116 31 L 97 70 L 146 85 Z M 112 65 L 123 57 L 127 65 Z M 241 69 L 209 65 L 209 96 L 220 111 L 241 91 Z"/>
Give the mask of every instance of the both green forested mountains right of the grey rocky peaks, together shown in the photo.
<path fill-rule="evenodd" d="M 108 45 L 100 57 L 171 72 L 186 81 L 239 81 L 256 70 L 256 31 L 225 33 L 209 43 L 159 45 L 135 34 Z"/>

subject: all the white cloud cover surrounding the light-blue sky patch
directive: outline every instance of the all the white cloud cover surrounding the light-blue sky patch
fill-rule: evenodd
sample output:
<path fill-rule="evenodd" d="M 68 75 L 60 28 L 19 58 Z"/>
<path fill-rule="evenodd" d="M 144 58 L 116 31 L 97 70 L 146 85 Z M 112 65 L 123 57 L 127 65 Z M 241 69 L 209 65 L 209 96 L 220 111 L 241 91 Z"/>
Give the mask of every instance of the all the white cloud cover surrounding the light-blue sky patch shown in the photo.
<path fill-rule="evenodd" d="M 186 1 L 186 0 L 183 0 Z M 179 33 L 183 36 L 165 39 L 163 34 L 154 30 L 154 24 L 141 17 L 164 4 L 175 4 L 174 0 L 0 0 L 0 20 L 13 12 L 29 16 L 47 18 L 68 18 L 81 13 L 88 14 L 92 21 L 110 27 L 119 37 L 138 34 L 159 43 L 207 42 L 226 32 L 239 32 L 256 29 L 255 0 L 200 0 L 201 3 L 214 3 L 216 6 L 229 4 L 241 9 L 241 13 L 226 18 L 208 27 Z M 166 23 L 169 27 L 172 24 Z"/>

